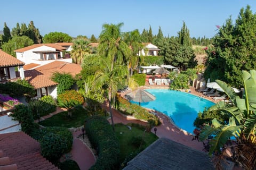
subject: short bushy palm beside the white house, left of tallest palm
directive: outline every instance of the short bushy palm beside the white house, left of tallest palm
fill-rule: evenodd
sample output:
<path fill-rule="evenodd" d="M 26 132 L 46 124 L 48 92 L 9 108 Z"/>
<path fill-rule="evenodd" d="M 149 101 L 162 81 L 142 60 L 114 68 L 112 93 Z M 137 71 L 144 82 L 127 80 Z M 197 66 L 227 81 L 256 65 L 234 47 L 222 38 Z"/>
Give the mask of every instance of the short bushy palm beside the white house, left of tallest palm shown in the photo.
<path fill-rule="evenodd" d="M 81 64 L 84 58 L 84 55 L 90 54 L 91 50 L 89 48 L 89 41 L 83 38 L 78 38 L 74 40 L 73 49 L 70 52 L 73 63 Z"/>

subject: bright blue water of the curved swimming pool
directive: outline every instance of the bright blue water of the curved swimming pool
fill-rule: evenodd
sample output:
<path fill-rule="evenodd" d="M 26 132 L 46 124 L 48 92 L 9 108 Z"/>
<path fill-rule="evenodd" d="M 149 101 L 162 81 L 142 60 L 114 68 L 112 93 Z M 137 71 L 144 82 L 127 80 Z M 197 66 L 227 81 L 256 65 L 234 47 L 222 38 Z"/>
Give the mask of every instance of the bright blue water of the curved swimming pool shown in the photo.
<path fill-rule="evenodd" d="M 151 108 L 162 112 L 172 118 L 174 123 L 181 129 L 193 133 L 194 120 L 199 111 L 203 112 L 205 107 L 214 105 L 212 101 L 180 92 L 166 89 L 147 89 L 156 97 L 156 100 L 141 103 L 142 107 Z M 134 102 L 133 102 L 134 103 Z"/>

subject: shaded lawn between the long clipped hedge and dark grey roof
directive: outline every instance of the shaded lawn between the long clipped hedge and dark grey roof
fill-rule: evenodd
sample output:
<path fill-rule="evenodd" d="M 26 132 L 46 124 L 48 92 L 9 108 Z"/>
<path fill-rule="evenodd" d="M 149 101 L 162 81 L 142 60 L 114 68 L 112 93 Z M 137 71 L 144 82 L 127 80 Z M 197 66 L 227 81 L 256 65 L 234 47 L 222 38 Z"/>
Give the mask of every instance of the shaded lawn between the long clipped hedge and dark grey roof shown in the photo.
<path fill-rule="evenodd" d="M 132 124 L 129 124 L 129 125 L 131 126 L 132 130 L 129 130 L 127 126 L 124 124 L 115 124 L 115 132 L 116 132 L 117 138 L 119 139 L 120 147 L 121 147 L 121 156 L 120 156 L 121 163 L 123 162 L 123 160 L 127 155 L 139 149 L 139 147 L 135 147 L 132 145 L 132 142 L 131 142 L 132 137 L 142 137 L 143 132 L 145 130 L 145 129 L 137 128 Z M 143 140 L 146 142 L 146 144 L 143 146 L 143 148 L 148 147 L 151 143 L 153 143 L 157 139 L 158 137 L 155 137 L 153 133 L 145 132 L 145 136 L 143 137 Z"/>

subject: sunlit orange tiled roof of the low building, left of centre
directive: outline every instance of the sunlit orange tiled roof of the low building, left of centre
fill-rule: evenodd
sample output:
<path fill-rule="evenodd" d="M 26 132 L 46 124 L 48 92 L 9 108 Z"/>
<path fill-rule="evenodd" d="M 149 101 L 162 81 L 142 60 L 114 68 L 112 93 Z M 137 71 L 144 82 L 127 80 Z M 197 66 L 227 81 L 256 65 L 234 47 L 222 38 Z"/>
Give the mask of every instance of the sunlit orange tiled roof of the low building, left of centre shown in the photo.
<path fill-rule="evenodd" d="M 66 63 L 61 61 L 54 61 L 49 64 L 37 67 L 34 70 L 26 70 L 25 79 L 34 86 L 35 89 L 55 86 L 58 83 L 51 80 L 51 76 L 54 72 L 70 73 L 75 77 L 76 74 L 82 70 L 81 65 L 74 63 Z"/>

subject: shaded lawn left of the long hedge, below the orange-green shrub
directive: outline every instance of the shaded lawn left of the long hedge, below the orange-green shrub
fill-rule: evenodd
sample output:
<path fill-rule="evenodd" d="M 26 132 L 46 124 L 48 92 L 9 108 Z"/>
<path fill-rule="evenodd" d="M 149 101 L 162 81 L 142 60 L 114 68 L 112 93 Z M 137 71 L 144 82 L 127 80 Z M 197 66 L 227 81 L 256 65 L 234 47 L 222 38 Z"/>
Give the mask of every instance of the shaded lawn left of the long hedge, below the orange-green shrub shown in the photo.
<path fill-rule="evenodd" d="M 85 118 L 89 115 L 84 108 L 78 107 L 72 114 L 72 118 L 69 118 L 68 112 L 60 112 L 44 121 L 40 124 L 43 126 L 61 126 L 65 128 L 77 128 L 84 125 Z"/>

